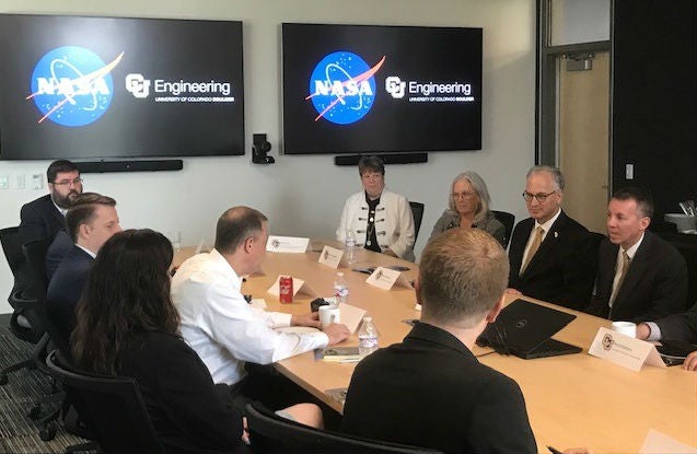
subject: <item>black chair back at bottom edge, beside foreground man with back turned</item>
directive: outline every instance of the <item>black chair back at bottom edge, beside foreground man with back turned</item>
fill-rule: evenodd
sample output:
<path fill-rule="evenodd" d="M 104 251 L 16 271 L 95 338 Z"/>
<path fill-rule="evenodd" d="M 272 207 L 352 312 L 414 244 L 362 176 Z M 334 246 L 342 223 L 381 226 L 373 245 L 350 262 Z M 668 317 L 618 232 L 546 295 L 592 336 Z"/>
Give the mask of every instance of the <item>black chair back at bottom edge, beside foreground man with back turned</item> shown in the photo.
<path fill-rule="evenodd" d="M 281 418 L 255 404 L 247 404 L 247 426 L 255 453 L 332 454 L 442 454 L 441 451 L 380 442 L 314 429 Z"/>

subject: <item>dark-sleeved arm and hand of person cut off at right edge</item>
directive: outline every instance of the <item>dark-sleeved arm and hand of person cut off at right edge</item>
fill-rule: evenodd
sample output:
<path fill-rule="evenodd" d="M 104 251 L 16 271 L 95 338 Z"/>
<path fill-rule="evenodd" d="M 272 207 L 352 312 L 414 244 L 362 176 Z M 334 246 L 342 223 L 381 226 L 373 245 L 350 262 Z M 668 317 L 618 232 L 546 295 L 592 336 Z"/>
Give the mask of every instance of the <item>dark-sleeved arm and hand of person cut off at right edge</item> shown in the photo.
<path fill-rule="evenodd" d="M 655 322 L 646 322 L 637 326 L 637 338 L 644 340 L 683 340 L 697 345 L 697 303 L 687 312 L 669 315 Z M 697 371 L 697 351 L 687 356 L 683 368 Z"/>

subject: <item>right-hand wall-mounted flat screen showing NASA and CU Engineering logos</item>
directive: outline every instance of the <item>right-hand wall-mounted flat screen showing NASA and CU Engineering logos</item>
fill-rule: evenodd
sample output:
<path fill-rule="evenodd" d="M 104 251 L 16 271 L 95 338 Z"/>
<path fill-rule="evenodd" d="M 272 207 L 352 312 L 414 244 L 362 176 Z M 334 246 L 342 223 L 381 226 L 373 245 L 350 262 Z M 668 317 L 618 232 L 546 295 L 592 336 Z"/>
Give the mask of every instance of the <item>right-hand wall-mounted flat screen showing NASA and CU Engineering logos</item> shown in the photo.
<path fill-rule="evenodd" d="M 481 28 L 282 24 L 288 154 L 481 149 Z"/>

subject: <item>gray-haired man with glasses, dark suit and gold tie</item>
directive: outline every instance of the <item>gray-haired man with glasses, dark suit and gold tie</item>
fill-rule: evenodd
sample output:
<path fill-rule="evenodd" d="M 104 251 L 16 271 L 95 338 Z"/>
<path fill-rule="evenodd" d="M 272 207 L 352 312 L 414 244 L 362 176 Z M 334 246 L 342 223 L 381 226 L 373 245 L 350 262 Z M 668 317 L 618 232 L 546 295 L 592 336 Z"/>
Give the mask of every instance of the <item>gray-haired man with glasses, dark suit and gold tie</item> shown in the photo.
<path fill-rule="evenodd" d="M 564 175 L 535 166 L 527 172 L 523 198 L 530 218 L 515 225 L 509 248 L 509 287 L 538 300 L 581 310 L 595 278 L 595 242 L 561 210 Z"/>

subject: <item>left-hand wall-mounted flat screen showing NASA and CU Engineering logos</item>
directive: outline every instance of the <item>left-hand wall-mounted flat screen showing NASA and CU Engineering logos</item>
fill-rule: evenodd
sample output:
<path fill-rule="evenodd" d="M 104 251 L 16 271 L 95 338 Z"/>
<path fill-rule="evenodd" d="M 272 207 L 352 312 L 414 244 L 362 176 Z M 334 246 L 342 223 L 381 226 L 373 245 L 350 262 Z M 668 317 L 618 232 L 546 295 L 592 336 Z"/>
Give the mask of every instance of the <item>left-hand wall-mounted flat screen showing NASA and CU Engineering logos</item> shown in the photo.
<path fill-rule="evenodd" d="M 0 159 L 244 154 L 242 23 L 0 14 Z"/>

